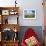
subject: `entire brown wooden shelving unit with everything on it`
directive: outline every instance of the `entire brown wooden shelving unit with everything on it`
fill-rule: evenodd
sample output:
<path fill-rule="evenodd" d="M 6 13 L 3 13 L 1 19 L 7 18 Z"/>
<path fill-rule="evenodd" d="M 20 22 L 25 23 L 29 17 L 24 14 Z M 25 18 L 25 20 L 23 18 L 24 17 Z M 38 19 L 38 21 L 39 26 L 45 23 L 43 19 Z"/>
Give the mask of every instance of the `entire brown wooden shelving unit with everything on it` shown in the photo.
<path fill-rule="evenodd" d="M 18 32 L 20 29 L 18 17 L 19 7 L 0 7 L 0 46 L 18 46 Z M 7 35 L 6 39 L 4 34 Z"/>

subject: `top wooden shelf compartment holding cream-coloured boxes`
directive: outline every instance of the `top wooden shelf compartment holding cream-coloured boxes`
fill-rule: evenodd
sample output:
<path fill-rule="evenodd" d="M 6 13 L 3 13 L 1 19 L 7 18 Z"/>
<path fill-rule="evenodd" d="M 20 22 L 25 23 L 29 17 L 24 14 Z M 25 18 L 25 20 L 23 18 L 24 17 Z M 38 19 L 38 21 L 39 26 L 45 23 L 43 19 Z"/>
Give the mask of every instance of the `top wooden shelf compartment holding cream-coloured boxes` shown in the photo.
<path fill-rule="evenodd" d="M 19 7 L 0 7 L 0 14 L 2 14 L 2 15 L 18 15 Z"/>

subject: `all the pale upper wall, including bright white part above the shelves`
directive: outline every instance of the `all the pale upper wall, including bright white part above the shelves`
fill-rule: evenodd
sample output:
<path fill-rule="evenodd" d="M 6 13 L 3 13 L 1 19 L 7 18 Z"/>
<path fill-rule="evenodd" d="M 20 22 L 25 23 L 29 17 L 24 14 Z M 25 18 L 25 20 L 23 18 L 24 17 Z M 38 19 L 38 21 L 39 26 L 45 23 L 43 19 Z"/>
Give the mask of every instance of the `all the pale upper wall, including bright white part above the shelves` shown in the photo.
<path fill-rule="evenodd" d="M 0 6 L 15 6 L 15 0 L 0 0 Z M 43 26 L 43 6 L 42 0 L 17 0 L 17 6 L 20 7 L 20 17 L 19 24 L 20 26 Z M 36 19 L 23 19 L 23 9 L 35 9 L 36 10 Z M 13 21 L 14 22 L 14 21 Z"/>

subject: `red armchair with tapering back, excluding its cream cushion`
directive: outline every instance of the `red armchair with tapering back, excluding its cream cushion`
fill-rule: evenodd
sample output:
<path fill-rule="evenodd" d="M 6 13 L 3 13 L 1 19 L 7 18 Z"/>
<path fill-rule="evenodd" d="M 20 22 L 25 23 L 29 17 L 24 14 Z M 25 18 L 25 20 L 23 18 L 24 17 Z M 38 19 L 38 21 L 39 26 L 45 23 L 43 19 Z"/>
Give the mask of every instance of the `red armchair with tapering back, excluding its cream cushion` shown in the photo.
<path fill-rule="evenodd" d="M 25 32 L 24 37 L 22 38 L 21 46 L 27 46 L 25 40 L 30 38 L 30 37 L 32 37 L 32 36 L 34 36 L 35 38 L 37 37 L 37 35 L 34 32 L 34 30 L 32 28 L 27 29 L 27 31 Z M 41 46 L 41 44 L 39 43 L 38 40 L 37 40 L 37 44 L 35 44 L 35 46 Z"/>

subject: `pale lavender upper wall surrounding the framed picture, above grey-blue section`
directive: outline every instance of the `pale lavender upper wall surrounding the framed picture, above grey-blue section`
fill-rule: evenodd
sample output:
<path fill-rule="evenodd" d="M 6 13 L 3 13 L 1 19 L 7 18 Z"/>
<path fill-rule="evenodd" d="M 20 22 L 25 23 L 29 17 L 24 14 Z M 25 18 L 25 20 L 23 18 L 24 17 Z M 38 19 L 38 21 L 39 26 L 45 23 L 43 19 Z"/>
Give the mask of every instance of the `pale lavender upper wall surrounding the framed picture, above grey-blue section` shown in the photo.
<path fill-rule="evenodd" d="M 43 26 L 43 6 L 42 0 L 25 0 L 21 3 L 22 10 L 31 8 L 36 10 L 36 19 L 23 19 L 23 12 L 21 10 L 20 25 L 21 26 Z"/>

